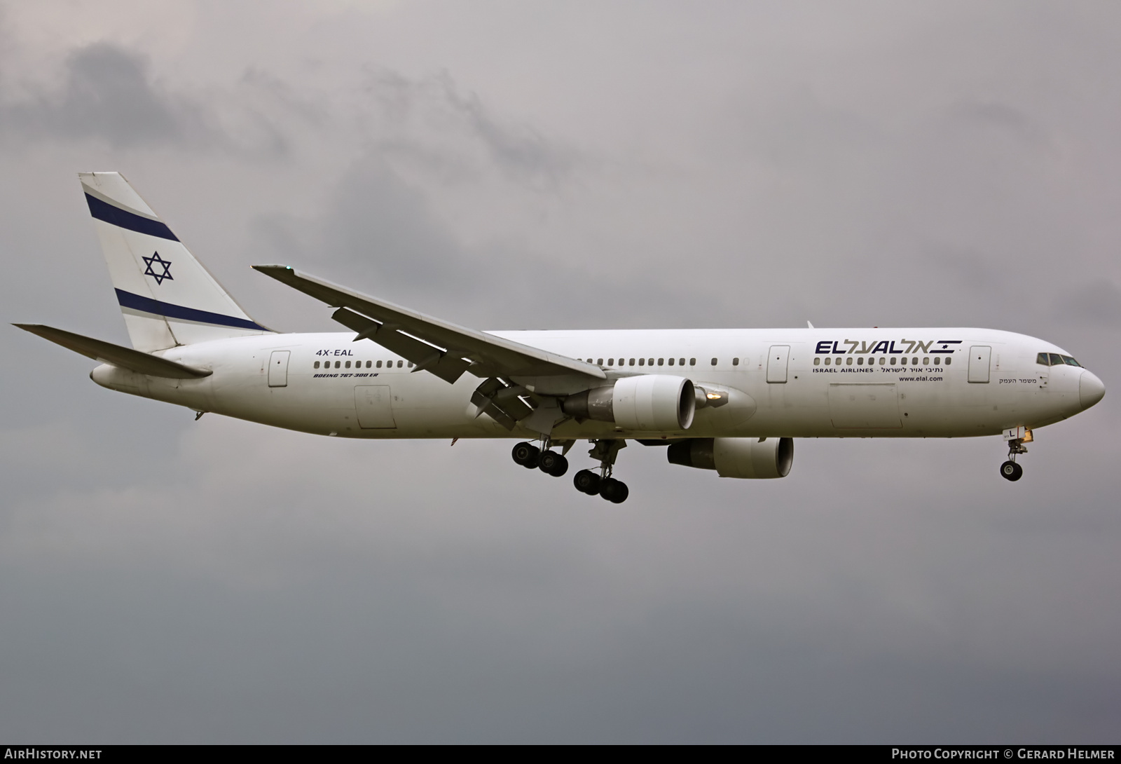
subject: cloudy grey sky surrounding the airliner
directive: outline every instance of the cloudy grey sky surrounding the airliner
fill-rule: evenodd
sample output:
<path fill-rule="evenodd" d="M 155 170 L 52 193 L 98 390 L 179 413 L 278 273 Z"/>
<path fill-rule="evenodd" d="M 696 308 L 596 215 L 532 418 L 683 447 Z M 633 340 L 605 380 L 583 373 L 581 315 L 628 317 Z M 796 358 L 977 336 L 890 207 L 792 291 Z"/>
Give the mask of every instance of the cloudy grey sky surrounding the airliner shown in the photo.
<path fill-rule="evenodd" d="M 285 331 L 336 326 L 250 265 L 483 329 L 992 326 L 1109 390 L 1015 485 L 995 438 L 632 445 L 614 506 L 10 329 L 0 737 L 1115 740 L 1119 70 L 1108 2 L 0 2 L 9 322 L 127 342 L 118 169 Z"/>

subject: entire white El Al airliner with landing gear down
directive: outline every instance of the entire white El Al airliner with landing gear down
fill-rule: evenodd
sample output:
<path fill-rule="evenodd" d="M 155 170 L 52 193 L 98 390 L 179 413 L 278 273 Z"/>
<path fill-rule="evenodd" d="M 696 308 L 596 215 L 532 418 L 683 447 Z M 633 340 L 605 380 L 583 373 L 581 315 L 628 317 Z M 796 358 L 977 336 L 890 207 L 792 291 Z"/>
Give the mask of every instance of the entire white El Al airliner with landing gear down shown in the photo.
<path fill-rule="evenodd" d="M 119 173 L 78 178 L 132 347 L 15 324 L 99 361 L 112 390 L 335 438 L 517 439 L 513 461 L 620 504 L 628 441 L 725 478 L 789 475 L 797 438 L 1034 432 L 1105 386 L 1062 348 L 990 329 L 476 331 L 284 265 L 257 270 L 334 309 L 341 333 L 249 316 Z"/>

